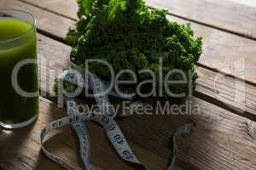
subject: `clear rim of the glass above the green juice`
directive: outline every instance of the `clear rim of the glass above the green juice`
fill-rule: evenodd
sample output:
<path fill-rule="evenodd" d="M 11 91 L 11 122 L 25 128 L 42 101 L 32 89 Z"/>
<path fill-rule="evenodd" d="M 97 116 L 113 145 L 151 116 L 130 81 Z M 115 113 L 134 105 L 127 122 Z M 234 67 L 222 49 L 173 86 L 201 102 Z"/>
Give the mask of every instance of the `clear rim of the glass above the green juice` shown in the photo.
<path fill-rule="evenodd" d="M 15 12 L 19 12 L 19 13 L 22 13 L 22 14 L 26 14 L 28 17 L 30 17 L 32 19 L 32 22 L 31 22 L 32 27 L 30 29 L 28 29 L 27 31 L 23 32 L 22 34 L 20 34 L 17 37 L 13 37 L 13 38 L 9 38 L 8 40 L 0 41 L 0 44 L 1 43 L 8 43 L 8 42 L 15 42 L 15 41 L 19 40 L 22 37 L 26 37 L 30 32 L 36 31 L 37 21 L 31 13 L 29 13 L 25 10 L 22 10 L 22 9 L 17 9 L 17 8 L 0 8 L 0 17 L 2 16 L 1 14 L 5 14 L 4 11 L 9 11 L 9 12 L 15 11 Z M 11 16 L 11 17 L 13 17 L 14 19 L 17 19 L 17 20 L 21 20 L 21 19 L 15 17 L 15 16 Z"/>

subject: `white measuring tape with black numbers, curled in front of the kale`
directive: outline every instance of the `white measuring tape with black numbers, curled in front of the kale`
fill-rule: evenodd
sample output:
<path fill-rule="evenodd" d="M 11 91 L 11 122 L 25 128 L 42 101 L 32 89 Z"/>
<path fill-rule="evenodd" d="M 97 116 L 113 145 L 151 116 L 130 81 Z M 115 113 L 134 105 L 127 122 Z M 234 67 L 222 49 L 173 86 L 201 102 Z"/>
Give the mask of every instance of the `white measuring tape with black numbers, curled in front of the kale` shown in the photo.
<path fill-rule="evenodd" d="M 102 168 L 96 167 L 95 165 L 90 163 L 90 138 L 87 133 L 86 128 L 86 121 L 97 122 L 99 123 L 105 130 L 105 133 L 108 136 L 110 143 L 113 145 L 113 148 L 116 150 L 118 155 L 125 161 L 135 163 L 138 166 L 142 167 L 145 170 L 148 170 L 148 167 L 145 167 L 140 161 L 138 161 L 137 157 L 134 155 L 133 151 L 131 150 L 127 140 L 125 139 L 124 134 L 121 132 L 118 124 L 113 120 L 113 111 L 111 107 L 109 107 L 109 99 L 107 94 L 103 94 L 102 92 L 106 88 L 104 83 L 95 75 L 91 74 L 89 71 L 81 70 L 79 66 L 74 65 L 71 63 L 72 67 L 82 73 L 88 74 L 89 76 L 89 86 L 91 88 L 96 98 L 96 103 L 100 106 L 101 113 L 96 114 L 95 112 L 86 112 L 86 113 L 79 113 L 76 109 L 77 103 L 73 98 L 66 98 L 67 104 L 67 115 L 61 119 L 56 120 L 55 122 L 49 122 L 46 127 L 41 132 L 40 135 L 40 143 L 42 150 L 46 156 L 49 157 L 52 161 L 59 163 L 62 167 L 65 167 L 69 170 L 82 170 L 79 167 L 75 167 L 67 163 L 67 161 L 62 160 L 60 157 L 55 156 L 54 154 L 50 153 L 48 150 L 44 148 L 44 142 L 46 141 L 46 136 L 49 132 L 64 127 L 67 125 L 71 125 L 73 130 L 77 134 L 79 138 L 79 151 L 80 156 L 82 157 L 82 161 L 84 163 L 84 167 L 86 170 L 101 170 Z M 76 85 L 81 85 L 78 83 L 79 80 L 77 77 L 74 77 L 72 70 L 64 71 L 59 79 L 61 81 L 71 82 Z M 83 82 L 82 84 L 85 85 Z M 109 93 L 111 94 L 111 93 Z M 114 93 L 113 93 L 114 94 Z M 60 95 L 60 94 L 59 94 Z M 116 94 L 115 94 L 116 95 Z M 135 102 L 134 105 L 142 105 L 140 103 Z M 131 106 L 131 110 L 128 111 L 128 115 L 132 115 L 133 110 L 136 108 Z M 85 121 L 85 122 L 84 122 Z M 173 153 L 172 153 L 172 161 L 170 166 L 167 170 L 173 170 L 175 161 L 177 159 L 177 136 L 183 133 L 189 133 L 191 130 L 191 124 L 185 124 L 182 127 L 179 127 L 177 131 L 173 134 Z"/>

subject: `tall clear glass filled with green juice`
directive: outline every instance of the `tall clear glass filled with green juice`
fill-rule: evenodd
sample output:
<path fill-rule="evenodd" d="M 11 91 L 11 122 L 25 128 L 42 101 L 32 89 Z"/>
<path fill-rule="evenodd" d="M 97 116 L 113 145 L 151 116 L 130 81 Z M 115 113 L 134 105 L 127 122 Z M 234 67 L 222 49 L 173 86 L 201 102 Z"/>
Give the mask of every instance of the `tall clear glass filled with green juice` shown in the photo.
<path fill-rule="evenodd" d="M 36 21 L 0 8 L 0 127 L 25 127 L 38 117 Z"/>

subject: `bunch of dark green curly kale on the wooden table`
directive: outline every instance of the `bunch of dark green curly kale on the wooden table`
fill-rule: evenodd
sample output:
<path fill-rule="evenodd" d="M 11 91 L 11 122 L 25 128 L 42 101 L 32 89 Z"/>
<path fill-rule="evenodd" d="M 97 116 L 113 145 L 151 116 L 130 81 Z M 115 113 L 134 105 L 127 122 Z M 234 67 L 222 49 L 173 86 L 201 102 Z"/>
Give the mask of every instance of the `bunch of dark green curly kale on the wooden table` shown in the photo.
<path fill-rule="evenodd" d="M 173 69 L 192 71 L 201 55 L 201 37 L 194 38 L 189 24 L 166 19 L 166 10 L 150 10 L 143 0 L 78 0 L 79 21 L 67 33 L 73 46 L 71 60 L 84 66 L 85 59 L 105 59 L 115 72 L 123 69 L 150 69 L 159 73 L 163 58 L 164 74 Z M 109 78 L 104 65 L 90 65 L 98 77 Z M 189 77 L 189 75 L 187 75 Z M 138 75 L 139 81 L 148 79 Z M 181 80 L 179 74 L 173 80 Z M 188 84 L 170 85 L 174 94 L 188 93 Z"/>

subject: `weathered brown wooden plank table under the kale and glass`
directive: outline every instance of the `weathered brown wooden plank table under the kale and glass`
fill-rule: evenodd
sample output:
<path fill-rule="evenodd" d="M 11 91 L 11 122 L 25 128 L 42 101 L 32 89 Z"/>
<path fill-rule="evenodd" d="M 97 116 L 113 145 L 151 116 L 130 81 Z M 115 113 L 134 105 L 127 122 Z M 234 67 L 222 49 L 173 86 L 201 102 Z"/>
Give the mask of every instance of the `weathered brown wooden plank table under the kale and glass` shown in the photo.
<path fill-rule="evenodd" d="M 150 169 L 166 168 L 172 158 L 172 133 L 187 121 L 193 122 L 194 128 L 178 139 L 176 169 L 256 169 L 256 141 L 247 133 L 247 121 L 256 121 L 256 6 L 247 2 L 250 1 L 147 1 L 151 8 L 168 9 L 170 20 L 191 22 L 204 42 L 197 64 L 200 78 L 194 97 L 188 99 L 201 106 L 201 115 L 131 116 L 117 120 L 131 148 Z M 71 48 L 64 37 L 77 20 L 76 2 L 0 0 L 0 7 L 25 9 L 38 20 L 41 90 L 38 121 L 14 132 L 0 131 L 0 169 L 63 169 L 40 151 L 39 133 L 47 122 L 66 115 L 55 104 L 52 85 L 61 69 L 67 67 Z M 243 63 L 244 71 L 234 71 Z M 135 169 L 115 155 L 101 127 L 88 122 L 88 128 L 93 163 L 104 169 Z M 53 135 L 45 146 L 82 167 L 73 131 L 66 127 Z"/>

